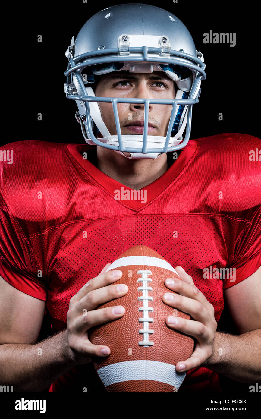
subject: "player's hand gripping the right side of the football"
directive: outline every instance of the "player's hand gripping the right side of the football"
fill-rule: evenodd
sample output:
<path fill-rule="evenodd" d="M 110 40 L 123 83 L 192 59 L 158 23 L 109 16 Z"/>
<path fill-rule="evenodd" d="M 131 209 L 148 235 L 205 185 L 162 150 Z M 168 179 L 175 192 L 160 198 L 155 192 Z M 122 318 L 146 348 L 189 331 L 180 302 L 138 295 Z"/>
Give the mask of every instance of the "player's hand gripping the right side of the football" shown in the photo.
<path fill-rule="evenodd" d="M 213 305 L 195 287 L 191 276 L 181 266 L 176 266 L 175 270 L 181 280 L 168 278 L 165 280 L 165 285 L 178 294 L 167 292 L 163 295 L 162 300 L 171 307 L 190 314 L 194 319 L 187 320 L 176 316 L 168 316 L 166 318 L 166 324 L 169 327 L 196 339 L 195 350 L 191 357 L 177 362 L 176 365 L 177 371 L 186 372 L 192 368 L 199 367 L 212 355 L 217 322 L 214 318 Z M 168 297 L 172 297 L 172 300 L 168 300 Z"/>

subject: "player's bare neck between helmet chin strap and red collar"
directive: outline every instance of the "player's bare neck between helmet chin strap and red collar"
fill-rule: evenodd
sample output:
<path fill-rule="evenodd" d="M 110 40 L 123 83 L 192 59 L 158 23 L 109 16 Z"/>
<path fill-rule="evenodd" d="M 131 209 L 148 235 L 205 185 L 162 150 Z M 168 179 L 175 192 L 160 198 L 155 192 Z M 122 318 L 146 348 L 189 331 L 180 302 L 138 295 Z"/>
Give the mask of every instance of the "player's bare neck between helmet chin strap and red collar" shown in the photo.
<path fill-rule="evenodd" d="M 97 158 L 92 163 L 103 173 L 119 183 L 131 188 L 142 189 L 151 184 L 168 170 L 171 165 L 167 155 L 163 153 L 155 160 L 132 160 L 109 150 L 97 146 Z"/>

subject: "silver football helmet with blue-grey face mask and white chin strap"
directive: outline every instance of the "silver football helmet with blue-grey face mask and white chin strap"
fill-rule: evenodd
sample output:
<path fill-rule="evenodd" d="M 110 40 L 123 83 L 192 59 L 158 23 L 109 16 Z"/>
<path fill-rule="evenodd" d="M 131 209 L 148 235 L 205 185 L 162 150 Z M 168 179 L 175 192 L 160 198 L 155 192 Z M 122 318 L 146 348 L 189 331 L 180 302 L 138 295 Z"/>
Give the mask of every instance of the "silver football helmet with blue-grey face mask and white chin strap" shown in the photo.
<path fill-rule="evenodd" d="M 75 41 L 72 38 L 66 56 L 69 63 L 65 92 L 67 98 L 77 103 L 75 116 L 88 144 L 120 154 L 128 152 L 129 158 L 134 159 L 155 159 L 162 153 L 186 146 L 192 106 L 199 101 L 200 83 L 206 75 L 203 55 L 196 51 L 189 31 L 176 16 L 155 6 L 134 3 L 101 10 L 85 23 Z M 175 99 L 129 98 L 122 97 L 122 93 L 121 97 L 96 97 L 92 88 L 93 83 L 97 84 L 95 78 L 117 71 L 163 72 L 176 83 Z M 111 135 L 103 122 L 98 105 L 102 102 L 111 103 L 113 107 L 116 135 Z M 142 104 L 143 134 L 121 133 L 117 108 L 121 103 Z M 149 106 L 163 104 L 172 106 L 167 134 L 148 135 Z M 186 136 L 182 141 L 185 128 Z M 98 138 L 98 131 L 102 138 Z"/>

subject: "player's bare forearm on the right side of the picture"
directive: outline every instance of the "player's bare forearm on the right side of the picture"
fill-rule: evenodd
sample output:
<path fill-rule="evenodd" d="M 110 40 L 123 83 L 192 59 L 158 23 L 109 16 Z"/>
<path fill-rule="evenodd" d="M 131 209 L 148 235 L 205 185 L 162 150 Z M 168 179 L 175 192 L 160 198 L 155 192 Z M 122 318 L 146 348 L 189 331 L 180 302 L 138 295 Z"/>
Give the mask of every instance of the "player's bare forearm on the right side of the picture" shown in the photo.
<path fill-rule="evenodd" d="M 239 336 L 216 332 L 212 356 L 202 364 L 241 383 L 261 380 L 261 329 Z"/>

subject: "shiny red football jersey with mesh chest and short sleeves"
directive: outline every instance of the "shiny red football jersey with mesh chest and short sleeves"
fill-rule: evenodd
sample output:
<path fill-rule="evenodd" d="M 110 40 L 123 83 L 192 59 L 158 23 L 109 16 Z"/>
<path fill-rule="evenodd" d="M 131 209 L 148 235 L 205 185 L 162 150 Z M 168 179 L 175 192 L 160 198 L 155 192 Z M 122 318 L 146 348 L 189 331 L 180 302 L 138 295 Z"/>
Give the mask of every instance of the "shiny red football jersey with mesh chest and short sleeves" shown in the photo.
<path fill-rule="evenodd" d="M 143 244 L 191 275 L 218 321 L 223 290 L 261 265 L 261 140 L 245 134 L 190 140 L 140 200 L 86 160 L 81 153 L 91 148 L 41 141 L 1 147 L 0 275 L 46 301 L 56 333 L 66 328 L 70 298 L 85 282 Z M 124 199 L 128 193 L 133 199 Z M 230 277 L 220 274 L 225 267 Z M 98 385 L 92 364 L 85 364 L 56 380 L 52 391 Z M 217 374 L 195 368 L 179 391 L 208 390 L 220 391 Z"/>

